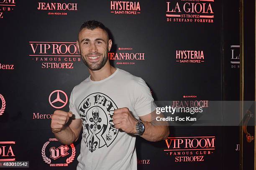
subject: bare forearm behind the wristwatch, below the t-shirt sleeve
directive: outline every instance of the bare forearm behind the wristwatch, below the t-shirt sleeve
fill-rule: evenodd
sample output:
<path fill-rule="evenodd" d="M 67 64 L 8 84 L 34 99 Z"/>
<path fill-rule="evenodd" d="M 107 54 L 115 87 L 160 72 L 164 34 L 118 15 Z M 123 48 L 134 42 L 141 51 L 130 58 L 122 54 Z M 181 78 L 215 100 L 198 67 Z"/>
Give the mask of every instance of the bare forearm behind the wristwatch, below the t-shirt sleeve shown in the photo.
<path fill-rule="evenodd" d="M 145 126 L 145 132 L 141 137 L 148 141 L 156 142 L 164 140 L 169 136 L 169 127 L 167 125 L 156 125 L 154 124 L 154 121 L 143 121 L 143 124 Z"/>

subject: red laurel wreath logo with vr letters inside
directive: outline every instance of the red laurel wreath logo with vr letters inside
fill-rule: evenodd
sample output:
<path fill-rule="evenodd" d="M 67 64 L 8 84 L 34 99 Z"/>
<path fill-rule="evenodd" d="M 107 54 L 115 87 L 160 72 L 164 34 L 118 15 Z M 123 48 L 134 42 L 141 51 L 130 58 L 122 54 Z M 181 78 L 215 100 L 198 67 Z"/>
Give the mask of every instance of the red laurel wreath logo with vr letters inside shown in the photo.
<path fill-rule="evenodd" d="M 46 156 L 46 148 L 50 144 L 50 142 L 52 142 L 52 141 L 58 142 L 58 140 L 56 138 L 50 138 L 49 141 L 44 143 L 44 145 L 42 147 L 41 155 L 42 155 L 42 158 L 43 158 L 44 162 L 49 164 L 49 166 L 51 166 L 51 167 L 68 166 L 69 163 L 72 163 L 74 158 L 75 158 L 75 155 L 76 155 L 76 148 L 74 147 L 73 143 L 70 144 L 70 147 L 72 148 L 72 153 L 66 159 L 66 163 L 51 163 L 52 160 L 50 158 L 53 158 L 54 160 L 57 160 L 57 159 L 67 157 L 69 155 L 69 153 L 67 153 L 67 151 L 69 151 L 68 145 L 61 145 L 57 149 L 55 149 L 56 147 L 51 147 L 49 149 L 50 158 L 48 158 Z"/>

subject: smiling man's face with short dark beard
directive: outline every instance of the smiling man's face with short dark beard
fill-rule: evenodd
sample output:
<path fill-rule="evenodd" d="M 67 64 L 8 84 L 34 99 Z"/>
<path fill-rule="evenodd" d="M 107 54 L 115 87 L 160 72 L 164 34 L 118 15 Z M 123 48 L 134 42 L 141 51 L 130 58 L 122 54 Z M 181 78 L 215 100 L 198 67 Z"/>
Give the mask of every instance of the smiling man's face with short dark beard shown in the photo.
<path fill-rule="evenodd" d="M 79 32 L 77 43 L 82 60 L 90 70 L 100 70 L 108 61 L 108 51 L 111 49 L 112 41 L 108 40 L 105 30 L 83 29 Z"/>

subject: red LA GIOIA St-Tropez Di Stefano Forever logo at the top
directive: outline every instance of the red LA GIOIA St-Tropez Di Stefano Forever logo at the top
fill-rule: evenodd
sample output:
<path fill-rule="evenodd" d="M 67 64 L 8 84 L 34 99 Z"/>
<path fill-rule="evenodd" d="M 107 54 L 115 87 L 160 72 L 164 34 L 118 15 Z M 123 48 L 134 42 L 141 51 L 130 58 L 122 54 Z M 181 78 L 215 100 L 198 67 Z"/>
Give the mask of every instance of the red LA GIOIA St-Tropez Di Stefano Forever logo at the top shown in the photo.
<path fill-rule="evenodd" d="M 174 23 L 213 23 L 214 0 L 174 0 L 166 2 L 166 21 Z"/>

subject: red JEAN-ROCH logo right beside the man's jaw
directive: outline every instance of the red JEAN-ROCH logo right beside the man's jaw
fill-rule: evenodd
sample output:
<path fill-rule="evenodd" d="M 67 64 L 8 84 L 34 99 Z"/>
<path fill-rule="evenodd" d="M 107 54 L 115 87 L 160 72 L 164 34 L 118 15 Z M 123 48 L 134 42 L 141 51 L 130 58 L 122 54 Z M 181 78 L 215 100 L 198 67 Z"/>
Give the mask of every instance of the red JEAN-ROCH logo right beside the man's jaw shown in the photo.
<path fill-rule="evenodd" d="M 118 52 L 109 52 L 108 59 L 117 65 L 134 65 L 136 60 L 145 60 L 145 53 L 133 51 L 132 47 L 119 47 Z"/>

